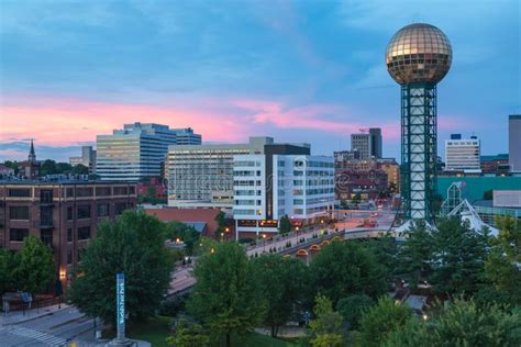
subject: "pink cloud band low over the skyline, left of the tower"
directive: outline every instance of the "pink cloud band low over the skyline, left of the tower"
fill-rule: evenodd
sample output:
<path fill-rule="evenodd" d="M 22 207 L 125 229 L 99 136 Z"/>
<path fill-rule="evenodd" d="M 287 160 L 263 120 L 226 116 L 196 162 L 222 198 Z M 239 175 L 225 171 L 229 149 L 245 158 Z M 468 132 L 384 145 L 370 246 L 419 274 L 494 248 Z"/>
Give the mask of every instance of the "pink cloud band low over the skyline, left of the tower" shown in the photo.
<path fill-rule="evenodd" d="M 27 96 L 2 100 L 0 141 L 34 137 L 40 144 L 74 145 L 93 142 L 96 135 L 111 134 L 132 122 L 190 126 L 206 142 L 244 142 L 250 135 L 276 136 L 277 130 L 291 128 L 348 136 L 369 126 L 383 127 L 386 139 L 399 139 L 398 120 L 396 124 L 370 124 L 353 113 L 337 104 L 288 107 L 282 101 L 263 99 L 207 98 L 198 104 L 166 107 Z"/>

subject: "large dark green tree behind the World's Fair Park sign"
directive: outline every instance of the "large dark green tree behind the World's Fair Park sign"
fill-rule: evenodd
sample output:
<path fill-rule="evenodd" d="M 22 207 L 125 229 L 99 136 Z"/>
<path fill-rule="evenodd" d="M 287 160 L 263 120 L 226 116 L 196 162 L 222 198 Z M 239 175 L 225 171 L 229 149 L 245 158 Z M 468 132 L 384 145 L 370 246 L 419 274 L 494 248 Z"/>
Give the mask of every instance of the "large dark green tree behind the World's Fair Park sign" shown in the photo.
<path fill-rule="evenodd" d="M 68 291 L 71 302 L 91 317 L 114 322 L 115 273 L 124 272 L 130 320 L 153 315 L 174 270 L 164 228 L 156 217 L 135 211 L 101 224 L 77 269 L 81 276 Z"/>

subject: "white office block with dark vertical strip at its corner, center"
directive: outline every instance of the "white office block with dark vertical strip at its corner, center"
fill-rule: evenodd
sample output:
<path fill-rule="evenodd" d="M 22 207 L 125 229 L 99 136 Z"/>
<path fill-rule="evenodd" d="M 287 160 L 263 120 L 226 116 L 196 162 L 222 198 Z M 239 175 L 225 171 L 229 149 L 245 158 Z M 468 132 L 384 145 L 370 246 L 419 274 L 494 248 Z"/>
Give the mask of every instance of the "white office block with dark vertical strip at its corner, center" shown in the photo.
<path fill-rule="evenodd" d="M 267 145 L 263 154 L 235 155 L 233 165 L 237 239 L 271 237 L 285 215 L 300 226 L 323 222 L 332 212 L 332 157 L 311 156 L 309 147 Z"/>

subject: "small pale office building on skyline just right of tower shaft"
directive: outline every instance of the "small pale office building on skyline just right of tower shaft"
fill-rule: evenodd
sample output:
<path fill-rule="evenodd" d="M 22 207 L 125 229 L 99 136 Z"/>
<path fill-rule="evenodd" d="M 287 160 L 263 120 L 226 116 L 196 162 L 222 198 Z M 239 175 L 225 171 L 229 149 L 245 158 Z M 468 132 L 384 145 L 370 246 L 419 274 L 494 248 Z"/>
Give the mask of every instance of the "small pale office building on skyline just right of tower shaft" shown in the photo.
<path fill-rule="evenodd" d="M 476 136 L 468 139 L 445 141 L 445 170 L 480 172 L 480 143 Z"/>

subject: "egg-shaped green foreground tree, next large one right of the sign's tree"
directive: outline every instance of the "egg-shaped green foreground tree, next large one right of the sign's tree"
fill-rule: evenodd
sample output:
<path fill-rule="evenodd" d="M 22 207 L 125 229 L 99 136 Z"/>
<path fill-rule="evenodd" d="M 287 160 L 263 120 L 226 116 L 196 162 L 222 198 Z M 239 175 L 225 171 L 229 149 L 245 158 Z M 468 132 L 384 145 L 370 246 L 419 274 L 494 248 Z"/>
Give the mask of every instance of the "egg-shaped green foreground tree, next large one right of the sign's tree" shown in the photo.
<path fill-rule="evenodd" d="M 196 286 L 187 303 L 188 312 L 215 335 L 252 331 L 262 321 L 266 302 L 255 281 L 253 265 L 236 243 L 220 243 L 202 255 L 195 267 Z"/>

